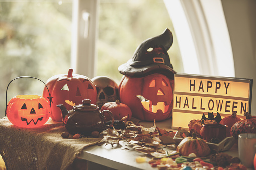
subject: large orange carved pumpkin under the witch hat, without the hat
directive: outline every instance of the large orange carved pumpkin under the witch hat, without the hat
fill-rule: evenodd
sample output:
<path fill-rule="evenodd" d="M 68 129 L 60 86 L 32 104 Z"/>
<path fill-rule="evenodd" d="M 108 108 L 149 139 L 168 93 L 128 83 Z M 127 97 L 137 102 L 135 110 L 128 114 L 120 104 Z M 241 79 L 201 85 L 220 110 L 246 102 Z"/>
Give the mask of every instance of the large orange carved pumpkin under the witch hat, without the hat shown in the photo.
<path fill-rule="evenodd" d="M 124 76 L 119 90 L 121 102 L 131 108 L 135 118 L 160 121 L 172 116 L 173 80 L 162 74 Z"/>

